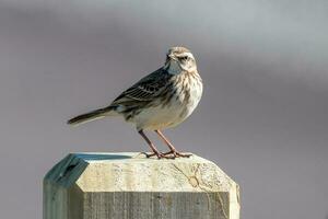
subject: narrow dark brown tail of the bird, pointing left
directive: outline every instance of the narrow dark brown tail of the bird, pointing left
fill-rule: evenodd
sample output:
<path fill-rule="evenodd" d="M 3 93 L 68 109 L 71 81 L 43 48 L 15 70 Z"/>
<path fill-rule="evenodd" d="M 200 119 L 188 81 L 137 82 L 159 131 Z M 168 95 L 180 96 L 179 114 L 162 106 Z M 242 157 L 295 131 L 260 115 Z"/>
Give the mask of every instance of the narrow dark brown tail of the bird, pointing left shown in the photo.
<path fill-rule="evenodd" d="M 73 117 L 73 118 L 69 119 L 67 123 L 69 125 L 84 124 L 84 123 L 87 123 L 87 122 L 92 122 L 92 120 L 95 120 L 95 119 L 103 118 L 103 117 L 109 115 L 110 111 L 112 111 L 112 108 L 108 108 L 108 107 L 95 110 L 95 111 L 92 111 L 90 113 L 82 114 L 80 116 Z"/>

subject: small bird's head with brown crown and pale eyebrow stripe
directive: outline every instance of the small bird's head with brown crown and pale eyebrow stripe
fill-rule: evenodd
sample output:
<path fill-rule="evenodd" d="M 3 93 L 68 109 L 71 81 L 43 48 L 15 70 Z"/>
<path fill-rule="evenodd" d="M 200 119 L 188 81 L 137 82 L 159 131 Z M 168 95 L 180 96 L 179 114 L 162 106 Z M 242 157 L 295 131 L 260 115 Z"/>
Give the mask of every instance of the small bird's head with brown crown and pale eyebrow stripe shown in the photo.
<path fill-rule="evenodd" d="M 191 51 L 178 46 L 168 49 L 164 68 L 172 74 L 178 74 L 184 71 L 194 72 L 197 70 L 196 60 Z"/>

